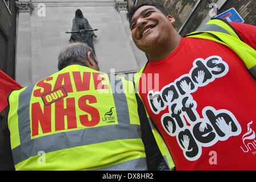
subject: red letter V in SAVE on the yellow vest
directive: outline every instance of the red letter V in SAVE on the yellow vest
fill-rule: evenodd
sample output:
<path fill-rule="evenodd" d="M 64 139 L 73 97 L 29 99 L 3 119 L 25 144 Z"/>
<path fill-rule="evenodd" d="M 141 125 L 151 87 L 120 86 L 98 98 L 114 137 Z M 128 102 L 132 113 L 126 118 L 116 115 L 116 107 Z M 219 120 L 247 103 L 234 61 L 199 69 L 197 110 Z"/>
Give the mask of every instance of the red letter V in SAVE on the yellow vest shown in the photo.
<path fill-rule="evenodd" d="M 81 72 L 73 72 L 73 77 L 75 81 L 75 88 L 77 88 L 77 92 L 86 91 L 90 89 L 90 72 L 83 72 L 83 78 L 81 78 Z"/>

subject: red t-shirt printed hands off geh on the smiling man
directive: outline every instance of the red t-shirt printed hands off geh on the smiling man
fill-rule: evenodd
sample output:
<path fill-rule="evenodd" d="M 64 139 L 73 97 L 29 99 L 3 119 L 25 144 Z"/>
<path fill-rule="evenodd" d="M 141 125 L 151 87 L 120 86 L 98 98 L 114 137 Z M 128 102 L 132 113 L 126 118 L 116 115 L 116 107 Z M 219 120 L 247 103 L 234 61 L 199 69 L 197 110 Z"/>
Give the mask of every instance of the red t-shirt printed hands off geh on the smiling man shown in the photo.
<path fill-rule="evenodd" d="M 232 25 L 255 49 L 256 28 Z M 231 49 L 182 38 L 143 73 L 139 92 L 177 170 L 256 170 L 256 82 Z"/>

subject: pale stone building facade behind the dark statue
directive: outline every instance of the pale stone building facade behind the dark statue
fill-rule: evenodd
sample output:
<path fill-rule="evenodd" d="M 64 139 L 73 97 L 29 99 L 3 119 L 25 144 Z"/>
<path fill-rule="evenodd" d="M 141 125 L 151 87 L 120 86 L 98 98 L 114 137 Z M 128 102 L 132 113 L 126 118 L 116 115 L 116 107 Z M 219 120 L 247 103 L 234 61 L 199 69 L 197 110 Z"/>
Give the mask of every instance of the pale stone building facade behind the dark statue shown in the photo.
<path fill-rule="evenodd" d="M 137 72 L 147 59 L 131 39 L 126 7 L 123 0 L 23 1 L 18 6 L 17 81 L 28 85 L 57 72 L 58 53 L 69 44 L 65 32 L 71 31 L 77 9 L 98 28 L 94 48 L 101 71 Z"/>

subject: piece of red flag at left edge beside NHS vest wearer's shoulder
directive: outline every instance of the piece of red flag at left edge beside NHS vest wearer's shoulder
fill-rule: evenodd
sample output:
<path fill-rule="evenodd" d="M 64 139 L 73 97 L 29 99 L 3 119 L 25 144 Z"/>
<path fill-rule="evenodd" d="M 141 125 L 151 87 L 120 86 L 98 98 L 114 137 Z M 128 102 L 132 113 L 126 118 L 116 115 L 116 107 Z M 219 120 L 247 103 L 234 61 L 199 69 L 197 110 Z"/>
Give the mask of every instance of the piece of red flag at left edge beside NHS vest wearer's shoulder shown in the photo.
<path fill-rule="evenodd" d="M 22 89 L 23 86 L 19 85 L 18 82 L 13 78 L 6 75 L 0 70 L 0 112 L 7 106 L 8 94 L 13 90 Z"/>

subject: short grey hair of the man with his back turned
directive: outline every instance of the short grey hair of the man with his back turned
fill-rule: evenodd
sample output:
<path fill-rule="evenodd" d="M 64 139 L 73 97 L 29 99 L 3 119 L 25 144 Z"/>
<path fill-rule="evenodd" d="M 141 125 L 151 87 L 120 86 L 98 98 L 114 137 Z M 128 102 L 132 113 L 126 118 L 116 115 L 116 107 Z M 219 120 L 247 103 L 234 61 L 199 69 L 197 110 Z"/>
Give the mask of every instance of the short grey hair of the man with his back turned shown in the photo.
<path fill-rule="evenodd" d="M 65 49 L 59 53 L 58 57 L 58 69 L 59 71 L 70 63 L 78 62 L 82 63 L 86 66 L 86 61 L 88 61 L 87 53 L 91 52 L 91 55 L 93 56 L 93 60 L 98 65 L 98 61 L 95 59 L 95 55 L 93 53 L 93 49 L 91 49 L 87 44 L 85 43 L 72 43 L 69 44 Z"/>

